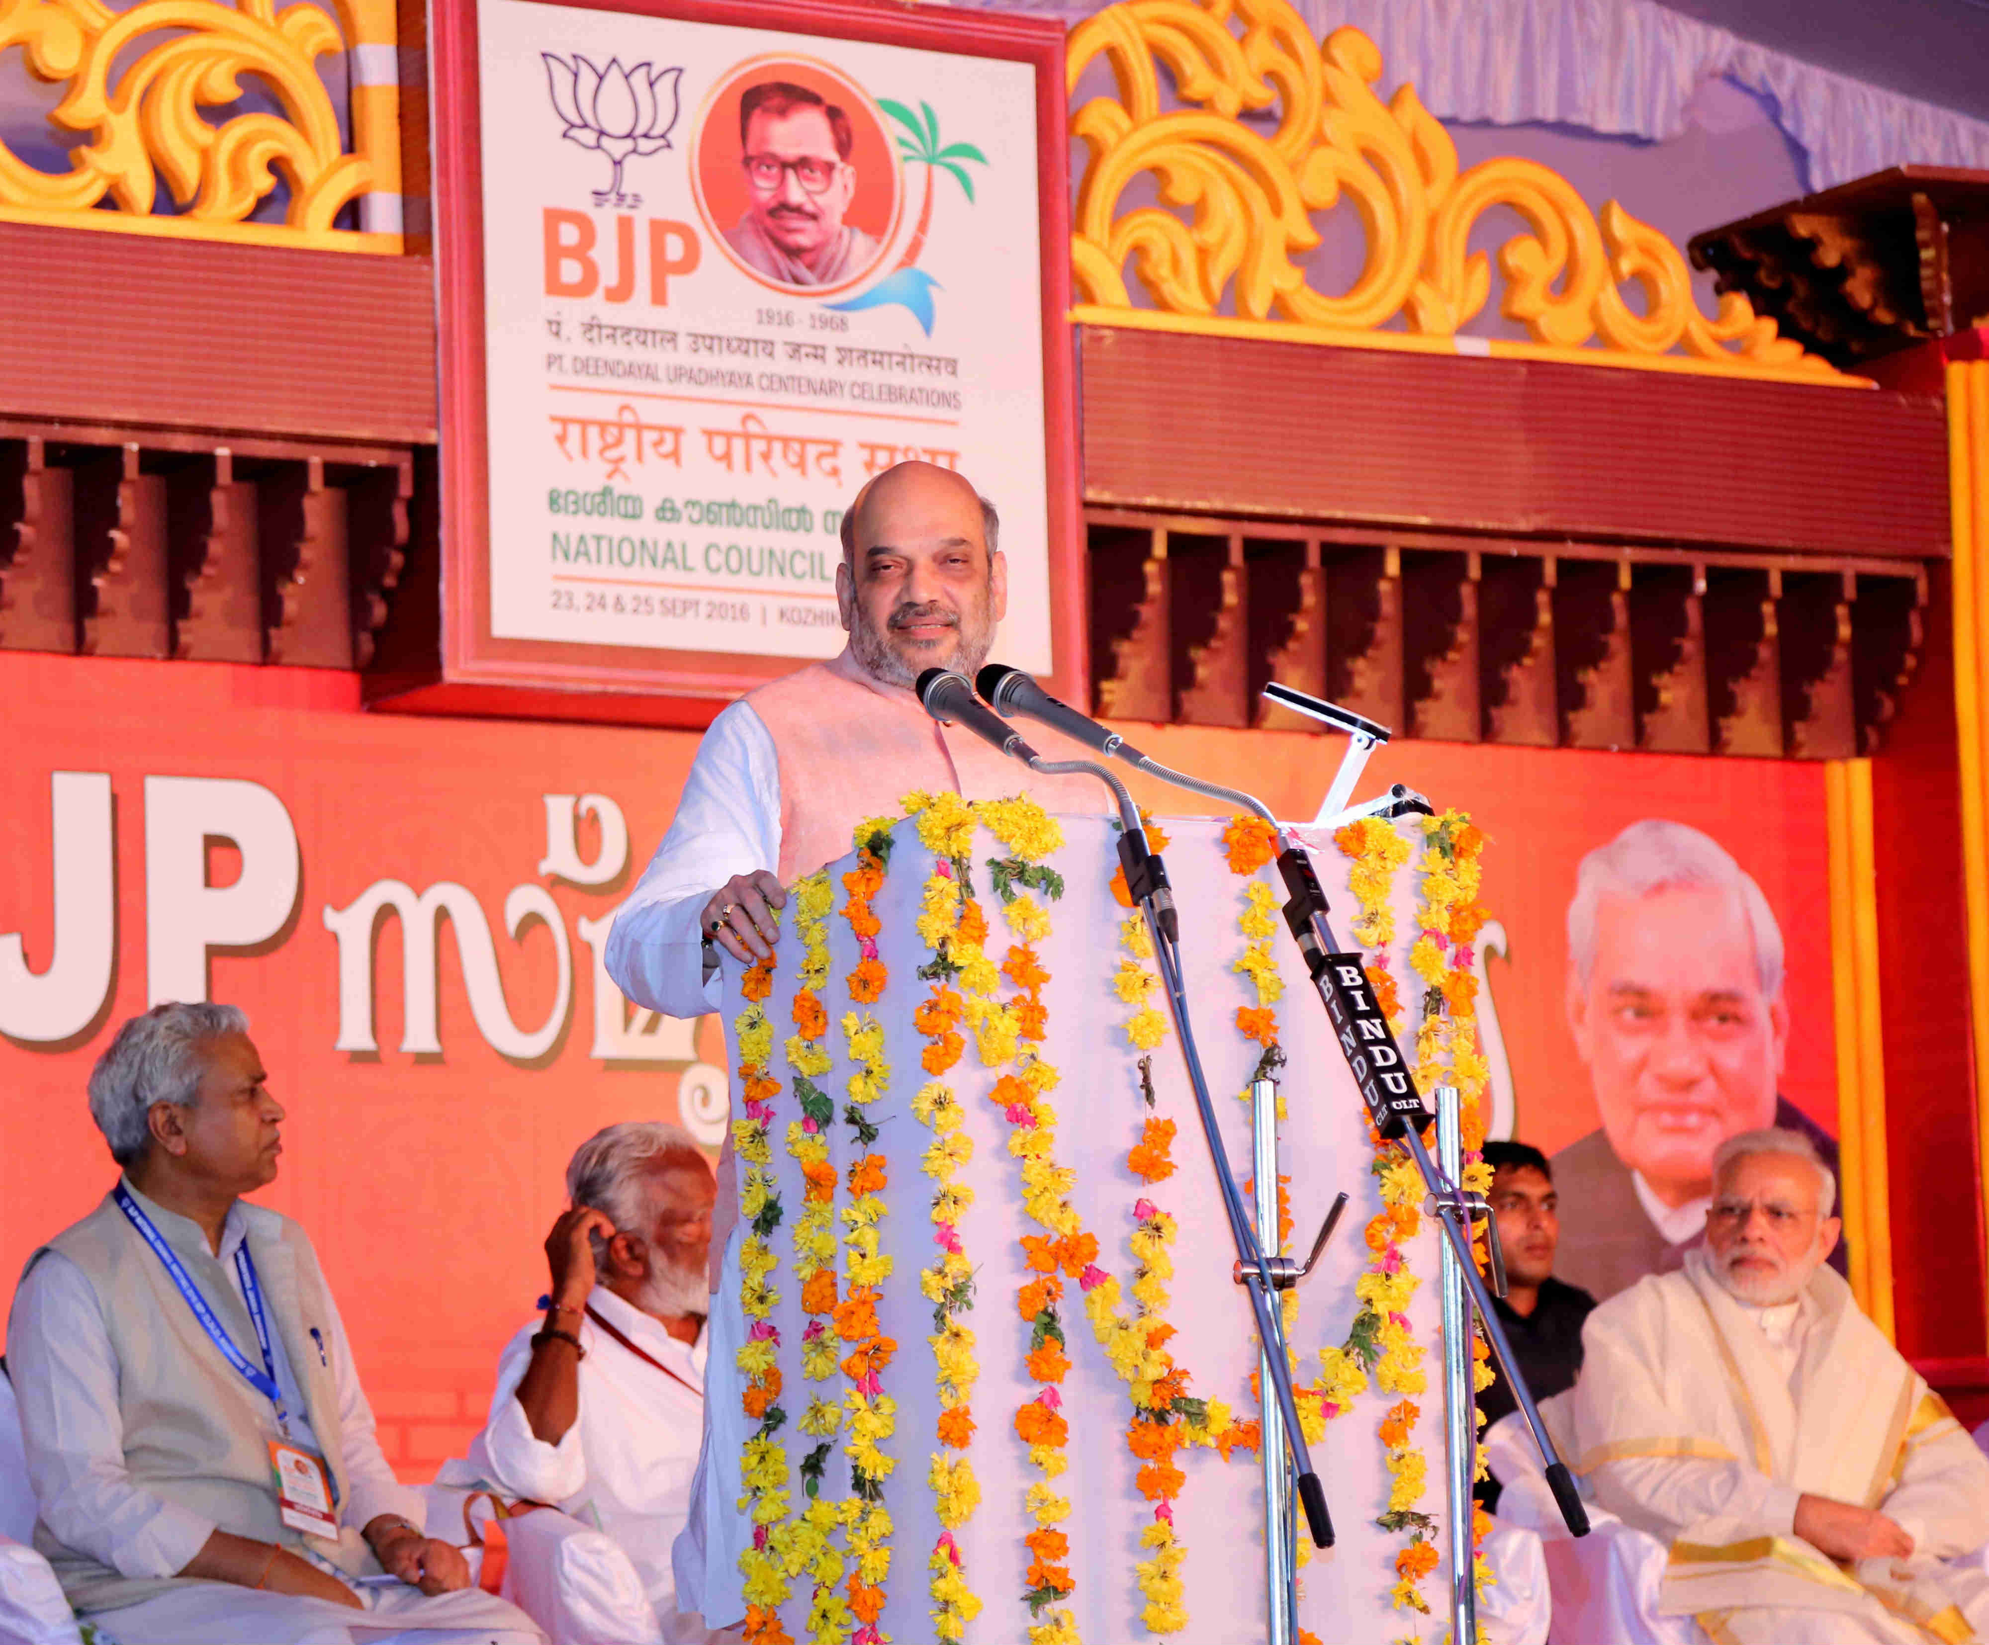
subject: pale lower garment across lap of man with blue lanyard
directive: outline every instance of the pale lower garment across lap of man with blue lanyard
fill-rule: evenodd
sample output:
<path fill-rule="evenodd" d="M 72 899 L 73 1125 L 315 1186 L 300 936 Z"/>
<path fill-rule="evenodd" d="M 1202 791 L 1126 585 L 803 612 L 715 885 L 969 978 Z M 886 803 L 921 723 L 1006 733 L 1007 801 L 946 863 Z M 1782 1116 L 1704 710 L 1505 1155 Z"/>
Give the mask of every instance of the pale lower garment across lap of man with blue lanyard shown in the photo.
<path fill-rule="evenodd" d="M 197 1581 L 137 1605 L 91 1611 L 117 1645 L 545 1645 L 515 1605 L 479 1587 L 422 1593 L 364 1587 L 364 1611 L 330 1599 L 265 1593 L 227 1581 Z"/>

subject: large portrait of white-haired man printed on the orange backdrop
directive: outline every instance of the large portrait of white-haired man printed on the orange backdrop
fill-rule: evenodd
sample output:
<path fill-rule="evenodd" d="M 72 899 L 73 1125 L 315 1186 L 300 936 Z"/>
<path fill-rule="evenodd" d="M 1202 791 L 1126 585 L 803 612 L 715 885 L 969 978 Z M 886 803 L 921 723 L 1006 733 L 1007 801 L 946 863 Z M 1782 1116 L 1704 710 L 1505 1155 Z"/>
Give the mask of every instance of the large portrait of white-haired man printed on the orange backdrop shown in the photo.
<path fill-rule="evenodd" d="M 1565 1005 L 1599 1126 L 1553 1156 L 1565 1281 L 1601 1301 L 1681 1267 L 1730 1136 L 1800 1132 L 1836 1170 L 1836 1142 L 1780 1090 L 1782 971 L 1760 885 L 1697 827 L 1647 818 L 1581 859 Z M 1842 1241 L 1830 1265 L 1848 1271 Z"/>

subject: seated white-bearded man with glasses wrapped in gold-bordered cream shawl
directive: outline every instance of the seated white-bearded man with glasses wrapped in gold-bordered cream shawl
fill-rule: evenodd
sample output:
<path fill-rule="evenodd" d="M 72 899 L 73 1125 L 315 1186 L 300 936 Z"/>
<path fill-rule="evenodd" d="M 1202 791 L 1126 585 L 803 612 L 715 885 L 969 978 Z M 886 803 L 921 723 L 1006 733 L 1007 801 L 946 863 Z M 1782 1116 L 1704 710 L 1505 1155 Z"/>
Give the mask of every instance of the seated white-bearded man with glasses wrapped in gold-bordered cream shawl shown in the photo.
<path fill-rule="evenodd" d="M 1671 1548 L 1659 1609 L 1715 1641 L 1971 1641 L 1989 1458 L 1824 1259 L 1830 1170 L 1786 1130 L 1728 1138 L 1705 1249 L 1605 1301 L 1567 1394 L 1595 1500 Z"/>

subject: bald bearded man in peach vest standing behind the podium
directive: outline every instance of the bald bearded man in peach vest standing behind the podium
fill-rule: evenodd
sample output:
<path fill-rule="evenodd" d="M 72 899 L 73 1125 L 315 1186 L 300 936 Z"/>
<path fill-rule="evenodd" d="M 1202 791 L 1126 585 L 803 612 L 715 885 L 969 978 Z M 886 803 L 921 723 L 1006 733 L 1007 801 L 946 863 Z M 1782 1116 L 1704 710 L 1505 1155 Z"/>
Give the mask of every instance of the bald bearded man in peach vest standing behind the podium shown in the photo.
<path fill-rule="evenodd" d="M 941 726 L 911 686 L 927 668 L 969 678 L 987 662 L 1008 605 L 1008 565 L 994 505 L 951 469 L 897 463 L 843 515 L 835 603 L 847 646 L 748 692 L 698 746 L 656 857 L 615 915 L 607 969 L 621 991 L 670 1016 L 718 1010 L 718 951 L 742 963 L 772 953 L 782 887 L 853 849 L 857 823 L 913 790 L 967 800 L 1028 794 L 1060 814 L 1104 812 L 1092 778 L 1044 778 L 955 726 Z M 1086 756 L 1044 728 L 1030 742 L 1050 760 Z M 712 1293 L 738 1295 L 738 1178 L 732 1142 L 718 1164 Z M 712 1313 L 710 1355 L 726 1313 Z M 746 1615 L 738 1554 L 744 1432 L 736 1402 L 706 1400 L 704 1454 L 690 1524 L 676 1542 L 678 1605 L 710 1627 Z"/>

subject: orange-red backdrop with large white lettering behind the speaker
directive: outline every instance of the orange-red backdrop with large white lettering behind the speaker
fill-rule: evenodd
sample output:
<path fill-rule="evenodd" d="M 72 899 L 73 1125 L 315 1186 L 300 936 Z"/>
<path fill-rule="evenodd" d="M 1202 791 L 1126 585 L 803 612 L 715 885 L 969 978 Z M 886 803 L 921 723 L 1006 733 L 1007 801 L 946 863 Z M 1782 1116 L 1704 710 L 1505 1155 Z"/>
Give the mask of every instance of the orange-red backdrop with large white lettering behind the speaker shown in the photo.
<path fill-rule="evenodd" d="M 84 1080 L 109 1032 L 145 1006 L 143 778 L 247 778 L 296 833 L 302 877 L 290 923 L 255 953 L 217 953 L 211 997 L 241 1005 L 288 1106 L 282 1178 L 267 1201 L 310 1229 L 350 1325 L 390 1456 L 410 1478 L 459 1456 L 481 1424 L 501 1343 L 543 1289 L 539 1241 L 561 1207 L 573 1146 L 621 1118 L 678 1118 L 676 1072 L 595 1060 L 591 951 L 577 921 L 607 915 L 668 823 L 696 748 L 688 732 L 370 716 L 346 674 L 191 662 L 0 654 L 10 704 L 0 768 L 0 935 L 20 933 L 34 971 L 52 943 L 50 776 L 105 772 L 115 796 L 117 967 L 91 1028 L 62 1046 L 0 1040 L 0 1301 L 40 1239 L 111 1182 Z M 1253 788 L 1309 818 L 1337 742 L 1297 734 L 1162 728 L 1156 758 Z M 1408 782 L 1470 810 L 1492 835 L 1486 901 L 1510 961 L 1490 987 L 1518 1088 L 1520 1134 L 1559 1148 L 1591 1130 L 1593 1104 L 1561 1022 L 1563 915 L 1575 863 L 1625 823 L 1669 816 L 1718 837 L 1760 881 L 1788 939 L 1784 1092 L 1834 1128 L 1830 939 L 1822 770 L 1750 760 L 1575 754 L 1456 744 L 1382 750 L 1364 792 Z M 629 820 L 631 865 L 605 887 L 541 875 L 547 794 L 605 794 Z M 1162 814 L 1199 810 L 1148 790 Z M 583 835 L 581 855 L 595 843 Z M 209 879 L 239 865 L 209 851 Z M 503 933 L 511 887 L 549 885 L 573 949 L 563 1034 L 533 1062 L 491 1050 L 469 1014 L 448 921 L 438 941 L 440 1056 L 402 1038 L 396 921 L 376 931 L 378 1052 L 334 1050 L 338 945 L 324 909 L 368 885 L 416 893 L 453 881 L 493 927 L 509 1014 L 545 1018 L 553 939 Z M 700 1050 L 718 1060 L 716 1032 Z M 1303 1078 L 1303 1070 L 1297 1070 Z M 1303 1090 L 1303 1086 L 1301 1086 Z"/>

